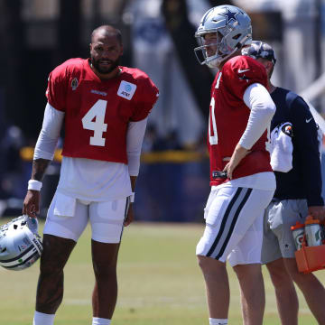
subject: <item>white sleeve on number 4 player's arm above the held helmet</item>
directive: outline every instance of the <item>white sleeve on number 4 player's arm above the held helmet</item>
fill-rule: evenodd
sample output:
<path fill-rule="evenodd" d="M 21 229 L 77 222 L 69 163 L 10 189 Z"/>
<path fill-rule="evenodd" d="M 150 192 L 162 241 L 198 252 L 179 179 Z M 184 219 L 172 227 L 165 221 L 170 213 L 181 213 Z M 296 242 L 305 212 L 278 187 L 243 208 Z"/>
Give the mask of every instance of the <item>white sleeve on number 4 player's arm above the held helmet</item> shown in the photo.
<path fill-rule="evenodd" d="M 44 112 L 42 130 L 35 145 L 33 159 L 52 160 L 60 136 L 64 113 L 47 103 Z"/>

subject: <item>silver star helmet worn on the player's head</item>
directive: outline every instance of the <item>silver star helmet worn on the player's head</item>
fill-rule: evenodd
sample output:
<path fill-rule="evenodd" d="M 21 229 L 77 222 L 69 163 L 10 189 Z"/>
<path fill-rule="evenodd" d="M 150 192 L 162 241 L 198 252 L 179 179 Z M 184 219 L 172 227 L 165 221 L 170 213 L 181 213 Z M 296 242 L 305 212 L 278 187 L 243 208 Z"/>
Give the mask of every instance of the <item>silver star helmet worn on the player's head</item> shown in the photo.
<path fill-rule="evenodd" d="M 217 34 L 217 42 L 205 45 L 205 35 L 211 32 Z M 235 5 L 218 5 L 203 15 L 195 37 L 200 46 L 195 48 L 194 52 L 200 64 L 218 68 L 220 63 L 235 51 L 251 44 L 251 20 L 244 10 Z M 207 48 L 213 45 L 217 50 L 208 56 Z"/>

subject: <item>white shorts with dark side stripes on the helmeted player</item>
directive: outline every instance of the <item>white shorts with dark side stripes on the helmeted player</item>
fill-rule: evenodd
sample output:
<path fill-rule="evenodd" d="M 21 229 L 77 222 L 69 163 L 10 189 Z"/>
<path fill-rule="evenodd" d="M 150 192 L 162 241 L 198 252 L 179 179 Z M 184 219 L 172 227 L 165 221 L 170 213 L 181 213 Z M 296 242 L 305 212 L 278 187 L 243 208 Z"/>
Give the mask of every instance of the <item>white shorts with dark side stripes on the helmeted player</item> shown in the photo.
<path fill-rule="evenodd" d="M 274 190 L 220 186 L 211 190 L 204 211 L 206 228 L 197 255 L 230 265 L 261 263 L 263 216 Z"/>

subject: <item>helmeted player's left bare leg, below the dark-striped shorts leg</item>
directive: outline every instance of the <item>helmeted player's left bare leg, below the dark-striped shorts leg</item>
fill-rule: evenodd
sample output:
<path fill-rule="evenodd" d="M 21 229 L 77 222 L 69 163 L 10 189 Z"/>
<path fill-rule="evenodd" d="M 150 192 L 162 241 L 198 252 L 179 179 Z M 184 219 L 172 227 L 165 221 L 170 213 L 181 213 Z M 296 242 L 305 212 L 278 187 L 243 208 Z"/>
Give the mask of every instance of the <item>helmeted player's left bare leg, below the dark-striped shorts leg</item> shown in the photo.
<path fill-rule="evenodd" d="M 202 255 L 198 260 L 207 288 L 209 317 L 227 319 L 230 292 L 226 263 Z"/>

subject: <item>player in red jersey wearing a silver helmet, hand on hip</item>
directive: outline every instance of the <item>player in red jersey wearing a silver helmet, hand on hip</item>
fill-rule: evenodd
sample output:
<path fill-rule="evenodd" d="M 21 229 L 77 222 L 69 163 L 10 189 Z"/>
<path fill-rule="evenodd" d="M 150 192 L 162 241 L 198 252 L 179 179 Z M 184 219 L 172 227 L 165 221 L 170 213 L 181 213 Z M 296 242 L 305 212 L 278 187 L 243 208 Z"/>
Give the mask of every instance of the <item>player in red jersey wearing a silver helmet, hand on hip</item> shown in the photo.
<path fill-rule="evenodd" d="M 206 282 L 209 324 L 228 324 L 228 260 L 241 287 L 244 323 L 259 325 L 265 310 L 263 214 L 275 190 L 267 129 L 275 106 L 265 68 L 241 56 L 240 50 L 252 42 L 245 11 L 233 5 L 211 8 L 195 36 L 200 64 L 218 68 L 209 107 L 211 192 L 196 250 Z"/>

